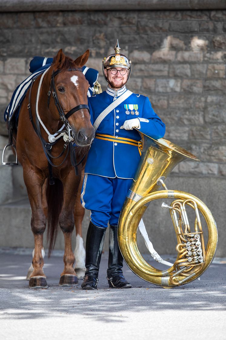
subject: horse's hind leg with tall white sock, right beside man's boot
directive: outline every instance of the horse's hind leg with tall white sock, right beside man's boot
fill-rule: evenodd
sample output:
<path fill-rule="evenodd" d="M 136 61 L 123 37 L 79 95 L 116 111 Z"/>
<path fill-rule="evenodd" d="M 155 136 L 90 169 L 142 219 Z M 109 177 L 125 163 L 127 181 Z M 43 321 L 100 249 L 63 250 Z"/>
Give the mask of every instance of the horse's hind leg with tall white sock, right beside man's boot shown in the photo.
<path fill-rule="evenodd" d="M 83 245 L 82 239 L 82 221 L 85 215 L 85 209 L 81 204 L 81 190 L 82 183 L 84 178 L 84 170 L 82 171 L 82 177 L 79 184 L 78 194 L 76 196 L 75 208 L 74 208 L 74 219 L 75 219 L 75 228 L 76 228 L 76 247 L 74 251 L 75 255 L 75 266 L 74 269 L 78 275 L 78 278 L 82 279 L 85 275 L 85 249 Z"/>

